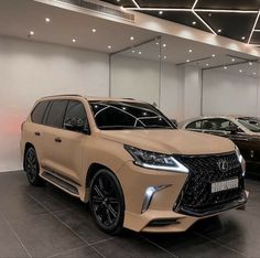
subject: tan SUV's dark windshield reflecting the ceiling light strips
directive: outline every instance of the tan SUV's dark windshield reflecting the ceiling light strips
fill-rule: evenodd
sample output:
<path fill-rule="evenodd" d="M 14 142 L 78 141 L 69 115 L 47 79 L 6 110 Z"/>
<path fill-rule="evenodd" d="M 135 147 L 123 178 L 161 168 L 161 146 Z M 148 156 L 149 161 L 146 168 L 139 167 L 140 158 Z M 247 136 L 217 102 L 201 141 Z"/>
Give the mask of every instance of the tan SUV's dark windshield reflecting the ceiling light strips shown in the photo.
<path fill-rule="evenodd" d="M 152 105 L 131 101 L 89 101 L 96 125 L 101 130 L 175 129 Z"/>

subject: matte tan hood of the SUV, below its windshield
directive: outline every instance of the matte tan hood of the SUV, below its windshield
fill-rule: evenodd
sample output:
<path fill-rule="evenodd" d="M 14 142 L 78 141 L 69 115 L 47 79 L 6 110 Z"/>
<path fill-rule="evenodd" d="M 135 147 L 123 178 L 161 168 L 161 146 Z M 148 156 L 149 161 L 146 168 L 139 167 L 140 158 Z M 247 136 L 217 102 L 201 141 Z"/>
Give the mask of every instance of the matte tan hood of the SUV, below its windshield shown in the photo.
<path fill-rule="evenodd" d="M 212 154 L 235 150 L 225 138 L 186 130 L 112 130 L 100 131 L 100 137 L 143 150 L 167 154 Z"/>

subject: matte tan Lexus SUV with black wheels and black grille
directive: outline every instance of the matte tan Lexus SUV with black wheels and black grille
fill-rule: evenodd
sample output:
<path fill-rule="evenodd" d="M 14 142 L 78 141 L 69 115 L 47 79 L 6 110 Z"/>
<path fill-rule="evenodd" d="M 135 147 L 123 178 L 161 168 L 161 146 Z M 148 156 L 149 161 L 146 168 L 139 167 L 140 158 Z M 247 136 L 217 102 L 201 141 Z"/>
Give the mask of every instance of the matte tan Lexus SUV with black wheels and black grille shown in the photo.
<path fill-rule="evenodd" d="M 110 234 L 183 232 L 247 202 L 245 161 L 230 140 L 177 130 L 133 99 L 42 98 L 22 125 L 21 153 L 32 185 L 48 181 L 89 202 Z"/>

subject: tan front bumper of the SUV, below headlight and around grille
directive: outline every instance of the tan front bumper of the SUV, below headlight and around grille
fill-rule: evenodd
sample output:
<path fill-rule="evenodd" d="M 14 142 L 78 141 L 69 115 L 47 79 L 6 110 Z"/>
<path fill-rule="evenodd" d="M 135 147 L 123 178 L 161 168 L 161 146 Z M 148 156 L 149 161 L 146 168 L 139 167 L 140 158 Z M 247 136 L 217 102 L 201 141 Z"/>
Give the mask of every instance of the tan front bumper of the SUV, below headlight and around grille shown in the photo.
<path fill-rule="evenodd" d="M 226 209 L 245 206 L 247 202 L 247 194 L 245 194 L 242 202 L 230 203 L 225 208 L 217 208 L 213 213 L 205 213 L 202 216 L 187 215 L 175 211 L 174 207 L 187 175 L 185 173 L 149 170 L 134 165 L 132 161 L 126 162 L 118 173 L 124 194 L 123 226 L 136 232 L 185 232 L 198 219 L 215 216 Z M 154 193 L 148 211 L 142 213 L 147 189 L 159 185 L 167 186 Z"/>

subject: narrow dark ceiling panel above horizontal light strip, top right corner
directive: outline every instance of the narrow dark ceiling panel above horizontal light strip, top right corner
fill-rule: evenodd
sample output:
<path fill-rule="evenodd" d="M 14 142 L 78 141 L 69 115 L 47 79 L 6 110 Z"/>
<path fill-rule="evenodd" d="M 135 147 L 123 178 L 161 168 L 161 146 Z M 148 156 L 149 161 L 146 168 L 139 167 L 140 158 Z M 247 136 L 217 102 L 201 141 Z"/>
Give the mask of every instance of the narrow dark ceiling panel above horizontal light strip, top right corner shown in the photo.
<path fill-rule="evenodd" d="M 198 0 L 196 8 L 258 11 L 260 9 L 260 0 Z"/>

